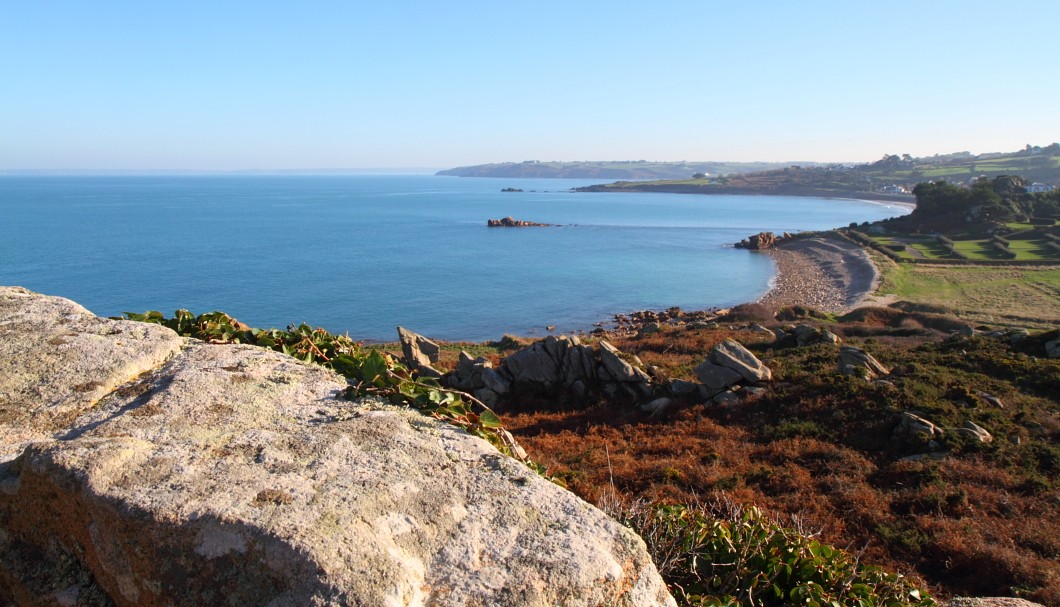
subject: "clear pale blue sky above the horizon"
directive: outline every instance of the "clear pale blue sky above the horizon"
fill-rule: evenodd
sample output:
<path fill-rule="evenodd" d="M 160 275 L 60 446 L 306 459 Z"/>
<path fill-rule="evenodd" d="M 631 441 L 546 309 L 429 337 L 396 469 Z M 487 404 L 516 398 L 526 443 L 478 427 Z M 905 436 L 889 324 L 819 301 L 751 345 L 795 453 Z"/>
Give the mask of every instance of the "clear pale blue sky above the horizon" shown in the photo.
<path fill-rule="evenodd" d="M 1055 141 L 1056 0 L 0 0 L 0 169 L 866 161 Z"/>

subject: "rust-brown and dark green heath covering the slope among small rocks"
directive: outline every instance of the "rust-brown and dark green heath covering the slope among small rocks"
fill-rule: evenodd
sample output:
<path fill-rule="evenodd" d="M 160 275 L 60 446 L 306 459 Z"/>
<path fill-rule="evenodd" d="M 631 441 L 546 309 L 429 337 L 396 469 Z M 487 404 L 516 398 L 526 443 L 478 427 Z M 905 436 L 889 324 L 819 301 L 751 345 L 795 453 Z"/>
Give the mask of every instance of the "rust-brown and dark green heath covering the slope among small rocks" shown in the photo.
<path fill-rule="evenodd" d="M 1060 605 L 1060 360 L 1039 352 L 1049 337 L 1015 346 L 949 338 L 953 319 L 894 310 L 847 320 L 829 328 L 893 367 L 886 382 L 838 375 L 834 346 L 774 349 L 749 329 L 673 328 L 617 345 L 691 378 L 710 346 L 735 337 L 773 368 L 774 382 L 735 407 L 693 400 L 664 418 L 559 399 L 523 403 L 504 421 L 589 501 L 613 484 L 630 500 L 756 504 L 942 597 Z M 909 461 L 929 447 L 893 438 L 903 411 L 946 428 L 973 421 L 994 441 L 951 431 L 944 457 Z"/>

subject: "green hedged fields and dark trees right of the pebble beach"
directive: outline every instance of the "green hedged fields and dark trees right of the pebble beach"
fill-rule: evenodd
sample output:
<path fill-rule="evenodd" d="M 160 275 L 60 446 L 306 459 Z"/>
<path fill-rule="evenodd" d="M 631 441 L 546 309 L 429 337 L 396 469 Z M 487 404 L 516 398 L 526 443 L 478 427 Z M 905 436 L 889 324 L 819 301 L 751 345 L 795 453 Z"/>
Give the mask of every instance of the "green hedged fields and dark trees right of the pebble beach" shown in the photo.
<path fill-rule="evenodd" d="M 1025 184 L 1009 175 L 969 188 L 924 182 L 913 213 L 840 233 L 874 252 L 880 294 L 1048 328 L 1060 319 L 1060 191 L 1028 194 Z"/>

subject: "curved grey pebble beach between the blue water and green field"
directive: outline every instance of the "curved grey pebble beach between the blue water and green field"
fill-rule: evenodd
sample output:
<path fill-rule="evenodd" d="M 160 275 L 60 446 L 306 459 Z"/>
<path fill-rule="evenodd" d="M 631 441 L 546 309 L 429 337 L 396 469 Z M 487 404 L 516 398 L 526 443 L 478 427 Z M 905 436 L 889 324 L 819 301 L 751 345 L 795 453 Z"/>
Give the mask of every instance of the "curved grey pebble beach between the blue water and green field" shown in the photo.
<path fill-rule="evenodd" d="M 868 253 L 835 236 L 793 238 L 767 253 L 777 276 L 759 303 L 771 306 L 844 313 L 871 294 L 880 278 Z"/>

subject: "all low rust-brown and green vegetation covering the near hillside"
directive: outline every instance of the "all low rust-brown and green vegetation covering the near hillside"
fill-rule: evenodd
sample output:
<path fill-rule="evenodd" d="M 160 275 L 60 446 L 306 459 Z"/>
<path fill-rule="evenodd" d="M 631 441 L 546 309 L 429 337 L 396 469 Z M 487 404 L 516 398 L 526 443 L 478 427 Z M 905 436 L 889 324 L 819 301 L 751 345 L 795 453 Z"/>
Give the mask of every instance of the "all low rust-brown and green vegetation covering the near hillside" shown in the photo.
<path fill-rule="evenodd" d="M 252 329 L 220 313 L 127 316 L 321 362 L 350 378 L 351 394 L 455 421 L 512 452 L 502 423 L 549 475 L 642 534 L 683 605 L 934 604 L 924 588 L 1060 599 L 1060 360 L 1043 358 L 1060 332 L 951 337 L 968 325 L 941 310 L 836 317 L 749 305 L 714 326 L 608 338 L 672 378 L 693 377 L 704 353 L 735 338 L 773 369 L 764 392 L 727 406 L 688 400 L 661 416 L 620 400 L 536 395 L 493 416 L 410 374 L 391 346 L 306 325 Z M 793 321 L 872 351 L 891 374 L 842 375 L 834 346 L 792 346 L 760 331 Z M 474 352 L 499 360 L 527 343 L 509 338 Z M 469 346 L 442 350 L 447 368 Z M 932 446 L 898 436 L 904 411 L 940 428 L 971 421 L 992 440 L 948 431 Z"/>

